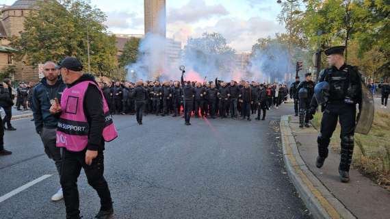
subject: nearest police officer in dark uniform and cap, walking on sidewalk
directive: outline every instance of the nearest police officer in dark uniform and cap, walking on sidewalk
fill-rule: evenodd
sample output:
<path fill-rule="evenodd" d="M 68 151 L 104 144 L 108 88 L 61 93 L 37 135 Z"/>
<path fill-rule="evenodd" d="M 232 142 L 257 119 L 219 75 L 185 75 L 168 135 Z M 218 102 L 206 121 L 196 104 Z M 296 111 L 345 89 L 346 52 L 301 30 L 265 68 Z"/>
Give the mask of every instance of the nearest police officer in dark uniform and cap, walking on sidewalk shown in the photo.
<path fill-rule="evenodd" d="M 321 71 L 319 81 L 329 83 L 329 96 L 324 108 L 318 142 L 317 168 L 324 165 L 328 157 L 328 145 L 337 119 L 341 125 L 341 162 L 339 175 L 341 182 L 350 181 L 349 170 L 354 151 L 354 129 L 356 126 L 356 103 L 361 105 L 361 74 L 355 66 L 346 64 L 343 51 L 345 47 L 332 47 L 325 51 L 329 68 Z M 315 101 L 312 101 L 312 113 L 315 112 Z"/>

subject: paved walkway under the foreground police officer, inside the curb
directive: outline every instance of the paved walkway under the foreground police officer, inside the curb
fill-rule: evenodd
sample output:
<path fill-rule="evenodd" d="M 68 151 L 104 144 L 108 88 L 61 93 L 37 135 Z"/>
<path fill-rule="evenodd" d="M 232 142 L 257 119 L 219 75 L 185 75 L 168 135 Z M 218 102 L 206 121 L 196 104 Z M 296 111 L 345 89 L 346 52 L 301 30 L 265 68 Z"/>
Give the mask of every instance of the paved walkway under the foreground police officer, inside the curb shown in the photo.
<path fill-rule="evenodd" d="M 289 117 L 289 127 L 298 152 L 307 168 L 356 218 L 390 218 L 390 193 L 358 170 L 350 170 L 350 183 L 341 183 L 338 167 L 340 155 L 330 150 L 324 166 L 315 167 L 317 130 L 298 127 L 298 117 Z"/>

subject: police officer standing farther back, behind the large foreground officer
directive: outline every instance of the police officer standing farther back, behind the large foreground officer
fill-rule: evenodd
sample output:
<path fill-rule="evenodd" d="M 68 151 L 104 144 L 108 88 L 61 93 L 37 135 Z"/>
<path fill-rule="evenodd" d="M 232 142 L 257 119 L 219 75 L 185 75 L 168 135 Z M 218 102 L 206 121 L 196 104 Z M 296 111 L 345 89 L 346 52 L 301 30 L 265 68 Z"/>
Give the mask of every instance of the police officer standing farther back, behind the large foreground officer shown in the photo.
<path fill-rule="evenodd" d="M 306 73 L 304 75 L 305 81 L 299 83 L 298 88 L 298 97 L 299 97 L 299 127 L 310 127 L 309 120 L 311 114 L 310 103 L 314 94 L 314 82 L 312 81 L 311 73 Z"/>

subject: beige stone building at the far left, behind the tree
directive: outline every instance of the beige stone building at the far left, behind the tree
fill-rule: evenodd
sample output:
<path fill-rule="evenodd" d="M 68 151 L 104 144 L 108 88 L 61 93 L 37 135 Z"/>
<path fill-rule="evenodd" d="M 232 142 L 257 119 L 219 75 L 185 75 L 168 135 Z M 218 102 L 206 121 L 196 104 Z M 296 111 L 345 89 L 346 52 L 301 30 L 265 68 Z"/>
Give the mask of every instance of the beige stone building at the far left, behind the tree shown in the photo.
<path fill-rule="evenodd" d="M 22 60 L 14 61 L 14 50 L 10 48 L 10 36 L 20 36 L 24 30 L 25 17 L 38 10 L 37 2 L 44 0 L 18 0 L 13 5 L 0 6 L 0 71 L 15 66 L 16 73 L 11 75 L 14 81 L 38 81 L 38 68 L 28 66 Z M 7 58 L 5 58 L 7 57 Z"/>

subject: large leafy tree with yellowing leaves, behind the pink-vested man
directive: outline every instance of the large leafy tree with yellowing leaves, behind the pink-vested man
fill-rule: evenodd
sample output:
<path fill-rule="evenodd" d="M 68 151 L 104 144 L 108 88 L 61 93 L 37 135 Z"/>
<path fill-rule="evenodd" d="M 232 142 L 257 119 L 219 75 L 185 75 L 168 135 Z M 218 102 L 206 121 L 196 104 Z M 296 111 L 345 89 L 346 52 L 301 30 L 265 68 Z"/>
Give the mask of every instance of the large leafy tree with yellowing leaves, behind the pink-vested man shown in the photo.
<path fill-rule="evenodd" d="M 27 64 L 47 60 L 59 62 L 75 56 L 88 70 L 88 38 L 90 71 L 110 77 L 117 68 L 115 37 L 103 25 L 105 14 L 86 0 L 40 1 L 40 10 L 27 16 L 25 31 L 12 38 L 12 46 L 20 51 Z"/>

